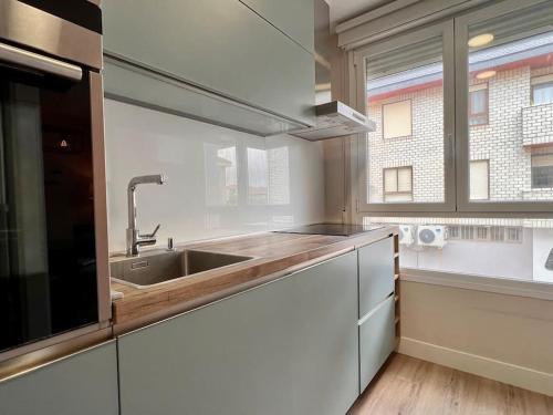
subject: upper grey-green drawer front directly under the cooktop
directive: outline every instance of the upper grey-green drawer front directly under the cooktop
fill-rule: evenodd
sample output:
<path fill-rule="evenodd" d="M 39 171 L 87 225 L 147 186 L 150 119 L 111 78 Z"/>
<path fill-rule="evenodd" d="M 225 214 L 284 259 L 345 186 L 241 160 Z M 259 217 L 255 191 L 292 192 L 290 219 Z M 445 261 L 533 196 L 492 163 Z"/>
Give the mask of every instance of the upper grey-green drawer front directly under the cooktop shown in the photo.
<path fill-rule="evenodd" d="M 359 249 L 359 319 L 394 292 L 394 238 Z"/>

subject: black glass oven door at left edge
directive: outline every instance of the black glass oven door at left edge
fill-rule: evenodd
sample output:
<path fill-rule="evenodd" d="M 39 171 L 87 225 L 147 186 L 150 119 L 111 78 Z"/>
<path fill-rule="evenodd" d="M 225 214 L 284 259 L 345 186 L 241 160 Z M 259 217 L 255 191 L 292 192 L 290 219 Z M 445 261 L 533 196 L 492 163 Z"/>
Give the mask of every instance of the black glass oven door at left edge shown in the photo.
<path fill-rule="evenodd" d="M 98 321 L 90 82 L 0 62 L 0 352 Z"/>

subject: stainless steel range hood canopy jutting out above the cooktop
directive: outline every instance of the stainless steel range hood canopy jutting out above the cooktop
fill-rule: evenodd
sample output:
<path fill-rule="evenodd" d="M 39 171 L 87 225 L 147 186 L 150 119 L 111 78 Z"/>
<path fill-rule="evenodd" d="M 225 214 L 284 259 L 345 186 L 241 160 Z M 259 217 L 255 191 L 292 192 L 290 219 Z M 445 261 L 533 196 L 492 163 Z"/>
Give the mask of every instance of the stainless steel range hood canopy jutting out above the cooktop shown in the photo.
<path fill-rule="evenodd" d="M 376 127 L 373 121 L 340 101 L 316 105 L 315 115 L 315 126 L 292 131 L 289 134 L 316 142 L 344 135 L 369 133 Z"/>

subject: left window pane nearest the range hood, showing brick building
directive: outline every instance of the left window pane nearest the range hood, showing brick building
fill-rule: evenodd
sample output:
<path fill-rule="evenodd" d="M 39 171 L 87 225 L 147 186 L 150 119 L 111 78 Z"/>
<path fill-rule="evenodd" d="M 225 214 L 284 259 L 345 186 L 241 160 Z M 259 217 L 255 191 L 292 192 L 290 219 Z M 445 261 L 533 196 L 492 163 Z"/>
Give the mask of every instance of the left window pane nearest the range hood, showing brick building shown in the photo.
<path fill-rule="evenodd" d="M 376 123 L 367 134 L 367 203 L 444 203 L 442 38 L 369 53 L 366 73 Z M 413 167 L 383 177 L 396 166 Z M 420 181 L 413 185 L 411 175 Z M 390 195 L 390 180 L 404 194 Z"/>

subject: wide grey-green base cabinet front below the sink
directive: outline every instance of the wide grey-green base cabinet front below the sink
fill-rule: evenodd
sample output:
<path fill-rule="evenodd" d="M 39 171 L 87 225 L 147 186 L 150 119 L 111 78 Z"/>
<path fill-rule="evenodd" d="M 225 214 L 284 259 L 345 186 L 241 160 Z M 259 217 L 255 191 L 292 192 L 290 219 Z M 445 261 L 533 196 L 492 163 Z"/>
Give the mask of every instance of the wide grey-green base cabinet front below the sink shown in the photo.
<path fill-rule="evenodd" d="M 355 258 L 121 336 L 122 414 L 344 414 L 358 395 Z"/>

